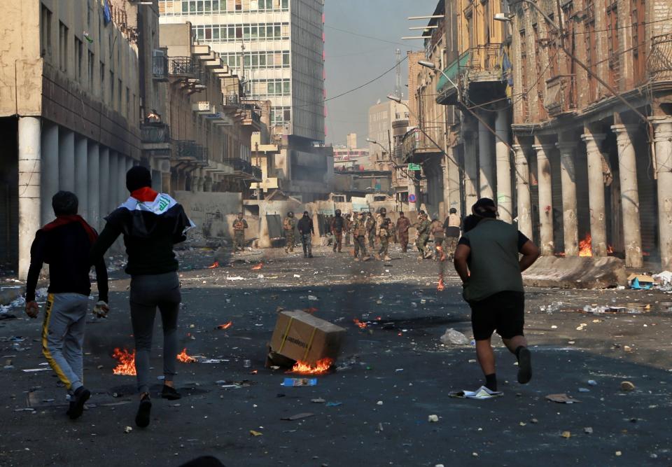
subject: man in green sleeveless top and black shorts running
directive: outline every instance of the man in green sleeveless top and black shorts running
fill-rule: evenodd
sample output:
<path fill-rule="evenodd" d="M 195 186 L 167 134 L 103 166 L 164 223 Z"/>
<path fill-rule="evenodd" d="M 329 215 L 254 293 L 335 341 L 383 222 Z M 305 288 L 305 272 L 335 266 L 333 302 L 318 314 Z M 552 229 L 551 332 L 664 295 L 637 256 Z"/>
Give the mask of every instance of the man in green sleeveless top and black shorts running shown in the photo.
<path fill-rule="evenodd" d="M 462 279 L 464 298 L 471 307 L 476 355 L 485 386 L 496 391 L 491 344 L 494 331 L 518 358 L 518 382 L 526 384 L 532 377 L 531 355 L 523 333 L 525 295 L 521 272 L 539 257 L 539 249 L 513 225 L 497 219 L 493 200 L 482 198 L 471 210 L 477 223 L 467 230 L 465 222 L 454 264 Z"/>

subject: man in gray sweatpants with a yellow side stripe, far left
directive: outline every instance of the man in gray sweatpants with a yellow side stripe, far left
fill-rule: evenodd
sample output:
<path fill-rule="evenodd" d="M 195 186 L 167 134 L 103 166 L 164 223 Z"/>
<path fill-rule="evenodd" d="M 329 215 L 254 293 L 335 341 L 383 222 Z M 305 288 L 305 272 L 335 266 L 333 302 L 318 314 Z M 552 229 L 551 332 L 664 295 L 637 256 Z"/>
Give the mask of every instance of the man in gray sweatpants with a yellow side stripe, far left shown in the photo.
<path fill-rule="evenodd" d="M 59 191 L 52 198 L 56 220 L 35 234 L 30 249 L 30 268 L 26 284 L 26 314 L 39 313 L 35 288 L 43 263 L 49 265 L 49 288 L 42 325 L 42 353 L 70 396 L 67 412 L 71 419 L 81 416 L 91 393 L 83 381 L 84 323 L 91 293 L 89 250 L 97 232 L 77 215 L 79 202 L 74 193 Z M 99 316 L 107 306 L 107 270 L 103 258 L 95 263 L 98 281 Z"/>

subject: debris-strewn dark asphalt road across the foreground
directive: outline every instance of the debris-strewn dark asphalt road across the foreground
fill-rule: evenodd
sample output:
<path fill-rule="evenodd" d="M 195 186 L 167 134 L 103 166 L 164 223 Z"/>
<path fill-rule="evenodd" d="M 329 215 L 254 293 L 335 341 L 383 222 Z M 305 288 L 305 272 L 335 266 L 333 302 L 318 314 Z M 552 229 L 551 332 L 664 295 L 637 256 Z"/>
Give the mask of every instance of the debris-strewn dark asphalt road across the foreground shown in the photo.
<path fill-rule="evenodd" d="M 179 466 L 204 454 L 226 466 L 672 465 L 672 312 L 659 304 L 667 295 L 529 290 L 531 383 L 515 382 L 514 358 L 496 340 L 504 396 L 450 398 L 451 391 L 482 384 L 473 347 L 440 342 L 447 328 L 472 337 L 452 267 L 447 288 L 437 292 L 437 263 L 419 263 L 396 246 L 388 263 L 316 250 L 311 260 L 248 252 L 216 269 L 205 268 L 212 251 L 181 253 L 181 347 L 225 361 L 179 363 L 183 398 L 154 398 L 146 429 L 134 426 L 134 377 L 112 372 L 113 349 L 133 346 L 122 273 L 113 274 L 109 319 L 87 325 L 85 384 L 93 396 L 77 421 L 64 416 L 64 390 L 50 370 L 22 371 L 45 368 L 41 322 L 0 321 L 2 363 L 13 366 L 0 368 L 0 466 Z M 251 270 L 260 261 L 262 269 Z M 577 311 L 627 303 L 650 309 Z M 339 370 L 318 377 L 314 387 L 283 387 L 283 370 L 264 368 L 278 307 L 315 307 L 316 316 L 347 329 Z M 377 323 L 360 329 L 353 319 Z M 228 321 L 231 328 L 216 329 Z M 25 340 L 8 340 L 14 336 Z M 161 374 L 160 353 L 153 354 L 154 377 Z M 625 380 L 633 391 L 621 391 Z M 580 402 L 553 403 L 545 398 L 551 393 Z M 282 420 L 302 412 L 314 415 Z M 439 420 L 429 422 L 431 414 Z"/>

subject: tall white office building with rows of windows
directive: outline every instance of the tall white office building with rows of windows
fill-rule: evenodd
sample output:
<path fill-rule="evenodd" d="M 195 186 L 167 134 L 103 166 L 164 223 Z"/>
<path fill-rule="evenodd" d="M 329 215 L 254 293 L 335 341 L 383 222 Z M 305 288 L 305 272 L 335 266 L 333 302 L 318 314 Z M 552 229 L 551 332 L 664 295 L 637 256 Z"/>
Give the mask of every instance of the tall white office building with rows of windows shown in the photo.
<path fill-rule="evenodd" d="M 324 141 L 323 0 L 160 0 L 162 24 L 190 22 L 250 99 L 269 100 L 272 133 Z M 224 91 L 227 94 L 227 90 Z"/>

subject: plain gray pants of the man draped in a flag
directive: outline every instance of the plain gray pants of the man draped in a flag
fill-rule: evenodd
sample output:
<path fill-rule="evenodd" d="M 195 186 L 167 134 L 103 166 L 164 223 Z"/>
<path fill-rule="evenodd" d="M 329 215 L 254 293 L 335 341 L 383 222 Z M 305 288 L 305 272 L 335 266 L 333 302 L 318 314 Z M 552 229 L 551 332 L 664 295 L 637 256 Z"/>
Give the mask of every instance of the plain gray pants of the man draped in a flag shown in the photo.
<path fill-rule="evenodd" d="M 177 314 L 182 300 L 177 272 L 131 278 L 131 323 L 135 339 L 135 370 L 138 391 L 149 392 L 149 354 L 152 350 L 154 317 L 158 307 L 163 327 L 163 375 L 172 381 L 176 374 Z"/>

